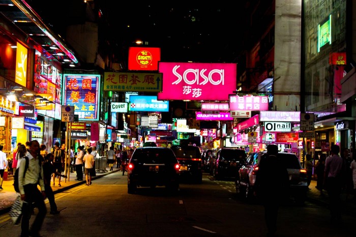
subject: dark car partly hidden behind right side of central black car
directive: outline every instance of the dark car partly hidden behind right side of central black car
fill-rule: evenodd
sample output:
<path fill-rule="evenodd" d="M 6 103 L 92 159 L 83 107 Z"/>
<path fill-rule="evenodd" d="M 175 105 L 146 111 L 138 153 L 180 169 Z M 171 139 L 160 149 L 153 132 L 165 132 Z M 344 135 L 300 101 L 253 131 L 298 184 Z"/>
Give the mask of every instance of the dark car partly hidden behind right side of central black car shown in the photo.
<path fill-rule="evenodd" d="M 202 182 L 203 161 L 198 146 L 193 145 L 172 145 L 171 150 L 174 152 L 179 161 L 180 177 L 192 177 L 197 183 Z"/>

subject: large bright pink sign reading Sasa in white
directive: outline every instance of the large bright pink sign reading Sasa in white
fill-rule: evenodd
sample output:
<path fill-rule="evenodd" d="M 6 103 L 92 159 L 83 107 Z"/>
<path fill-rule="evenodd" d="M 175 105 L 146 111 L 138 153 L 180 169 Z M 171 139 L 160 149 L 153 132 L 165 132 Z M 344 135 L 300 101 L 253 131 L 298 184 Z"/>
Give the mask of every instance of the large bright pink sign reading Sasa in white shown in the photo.
<path fill-rule="evenodd" d="M 236 90 L 236 64 L 158 63 L 159 100 L 228 100 Z"/>

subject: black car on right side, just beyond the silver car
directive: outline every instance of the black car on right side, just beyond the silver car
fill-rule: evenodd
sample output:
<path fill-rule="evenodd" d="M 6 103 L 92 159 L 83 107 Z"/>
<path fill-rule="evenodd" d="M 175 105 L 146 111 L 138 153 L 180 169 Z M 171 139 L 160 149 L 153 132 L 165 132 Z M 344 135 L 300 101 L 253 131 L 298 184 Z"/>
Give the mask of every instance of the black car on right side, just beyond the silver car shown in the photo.
<path fill-rule="evenodd" d="M 213 168 L 215 179 L 236 177 L 238 170 L 246 163 L 246 152 L 242 149 L 222 148 L 216 153 Z"/>

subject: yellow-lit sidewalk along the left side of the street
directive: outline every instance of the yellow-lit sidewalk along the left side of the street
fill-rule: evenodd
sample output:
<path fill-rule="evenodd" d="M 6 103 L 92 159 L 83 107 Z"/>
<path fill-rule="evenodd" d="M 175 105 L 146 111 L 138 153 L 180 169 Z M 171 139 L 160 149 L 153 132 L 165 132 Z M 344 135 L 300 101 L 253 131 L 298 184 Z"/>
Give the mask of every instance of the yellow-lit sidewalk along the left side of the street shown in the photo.
<path fill-rule="evenodd" d="M 100 177 L 108 175 L 108 174 L 113 173 L 113 172 L 118 172 L 119 169 L 113 167 L 113 171 L 109 171 L 109 168 L 106 168 L 106 171 L 107 172 L 103 171 L 103 173 L 96 173 L 96 176 L 92 177 L 92 180 L 99 179 Z M 69 179 L 67 178 L 67 181 L 66 181 L 66 179 L 64 179 L 62 177 L 62 179 L 61 179 L 61 186 L 62 187 L 58 187 L 58 181 L 55 182 L 56 186 L 54 186 L 54 187 L 51 186 L 52 190 L 53 190 L 53 193 L 54 194 L 61 193 L 61 192 L 64 192 L 64 191 L 66 191 L 68 189 L 71 189 L 73 187 L 76 187 L 76 186 L 79 186 L 79 185 L 82 185 L 82 184 L 86 183 L 85 175 L 84 175 L 83 181 L 76 181 L 75 179 L 76 179 L 76 173 L 75 172 L 69 174 Z M 14 190 L 14 186 L 12 185 L 13 183 L 14 183 L 13 180 L 4 181 L 3 182 L 3 189 L 4 190 L 0 191 L 0 215 L 2 215 L 4 213 L 8 213 L 10 211 L 11 206 L 14 203 L 14 201 L 15 201 L 17 195 L 18 195 Z M 51 184 L 52 184 L 52 182 L 51 182 Z"/>

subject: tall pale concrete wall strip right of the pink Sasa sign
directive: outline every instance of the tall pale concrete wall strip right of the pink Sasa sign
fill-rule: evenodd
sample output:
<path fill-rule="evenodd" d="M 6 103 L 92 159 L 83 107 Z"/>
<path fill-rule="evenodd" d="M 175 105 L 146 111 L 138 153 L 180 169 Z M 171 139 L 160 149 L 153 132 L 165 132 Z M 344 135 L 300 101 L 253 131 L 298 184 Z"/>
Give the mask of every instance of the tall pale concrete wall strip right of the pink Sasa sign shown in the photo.
<path fill-rule="evenodd" d="M 274 108 L 300 111 L 301 1 L 276 0 Z"/>

